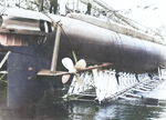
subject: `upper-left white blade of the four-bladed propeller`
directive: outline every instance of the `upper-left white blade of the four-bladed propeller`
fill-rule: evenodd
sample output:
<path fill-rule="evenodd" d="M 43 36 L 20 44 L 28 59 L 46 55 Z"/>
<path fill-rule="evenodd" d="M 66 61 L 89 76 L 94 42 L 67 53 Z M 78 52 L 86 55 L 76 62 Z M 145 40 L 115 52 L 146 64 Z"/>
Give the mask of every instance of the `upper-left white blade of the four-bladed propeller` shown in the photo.
<path fill-rule="evenodd" d="M 70 58 L 62 59 L 62 64 L 68 69 L 71 70 L 74 68 L 73 61 Z"/>

